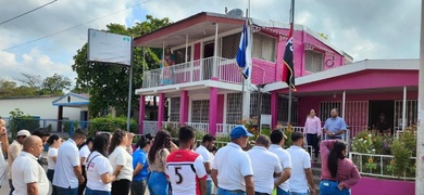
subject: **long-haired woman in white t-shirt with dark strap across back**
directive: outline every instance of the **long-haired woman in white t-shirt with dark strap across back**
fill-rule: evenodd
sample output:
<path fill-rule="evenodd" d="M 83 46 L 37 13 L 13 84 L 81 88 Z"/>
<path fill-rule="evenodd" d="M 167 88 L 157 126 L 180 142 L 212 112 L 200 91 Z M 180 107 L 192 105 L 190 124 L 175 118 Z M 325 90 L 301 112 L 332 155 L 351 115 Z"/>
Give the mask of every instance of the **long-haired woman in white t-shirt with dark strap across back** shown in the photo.
<path fill-rule="evenodd" d="M 96 135 L 90 155 L 86 160 L 87 187 L 86 195 L 110 195 L 115 180 L 113 169 L 108 159 L 110 134 Z"/>

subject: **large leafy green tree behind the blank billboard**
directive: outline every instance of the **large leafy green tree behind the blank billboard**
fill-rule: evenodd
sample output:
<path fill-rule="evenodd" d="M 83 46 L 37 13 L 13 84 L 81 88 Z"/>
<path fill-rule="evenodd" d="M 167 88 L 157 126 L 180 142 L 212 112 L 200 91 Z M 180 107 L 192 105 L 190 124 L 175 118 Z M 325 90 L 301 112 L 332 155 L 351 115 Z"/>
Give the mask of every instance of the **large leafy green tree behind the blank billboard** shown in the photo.
<path fill-rule="evenodd" d="M 146 21 L 126 28 L 120 24 L 107 25 L 108 32 L 139 37 L 170 24 L 169 18 L 153 18 L 146 16 Z M 142 50 L 146 51 L 146 64 Z M 134 48 L 133 62 L 133 108 L 138 107 L 139 96 L 134 94 L 135 89 L 142 83 L 142 69 L 158 68 L 162 51 L 160 49 Z M 90 104 L 88 106 L 91 117 L 101 116 L 104 109 L 115 107 L 117 115 L 124 115 L 127 110 L 129 68 L 115 66 L 108 63 L 87 62 L 87 43 L 77 51 L 74 56 L 72 69 L 76 72 L 77 79 L 75 91 L 88 91 Z"/>

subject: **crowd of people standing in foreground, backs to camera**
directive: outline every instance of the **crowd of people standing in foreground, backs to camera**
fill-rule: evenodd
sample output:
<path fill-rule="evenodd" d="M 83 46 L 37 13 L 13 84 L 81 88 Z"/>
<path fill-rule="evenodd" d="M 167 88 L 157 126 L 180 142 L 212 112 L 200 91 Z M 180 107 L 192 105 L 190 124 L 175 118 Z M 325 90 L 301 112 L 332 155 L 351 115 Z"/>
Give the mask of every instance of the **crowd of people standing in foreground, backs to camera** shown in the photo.
<path fill-rule="evenodd" d="M 11 167 L 9 174 L 1 172 L 1 158 L 0 177 L 9 176 L 14 195 L 144 195 L 147 188 L 151 195 L 315 194 L 302 132 L 291 134 L 292 145 L 287 150 L 283 131 L 259 135 L 248 152 L 242 148 L 252 134 L 244 126 L 236 126 L 230 142 L 219 150 L 210 134 L 197 146 L 196 130 L 189 126 L 179 129 L 177 144 L 167 131 L 158 131 L 154 138 L 140 135 L 134 151 L 134 134 L 124 130 L 93 139 L 76 130 L 66 141 L 42 130 L 33 135 L 21 130 L 11 145 L 5 133 L 5 121 L 0 118 L 2 152 L 8 153 Z M 46 143 L 47 172 L 39 164 Z M 321 194 L 349 194 L 360 174 L 345 158 L 346 144 L 327 140 L 320 150 Z"/>

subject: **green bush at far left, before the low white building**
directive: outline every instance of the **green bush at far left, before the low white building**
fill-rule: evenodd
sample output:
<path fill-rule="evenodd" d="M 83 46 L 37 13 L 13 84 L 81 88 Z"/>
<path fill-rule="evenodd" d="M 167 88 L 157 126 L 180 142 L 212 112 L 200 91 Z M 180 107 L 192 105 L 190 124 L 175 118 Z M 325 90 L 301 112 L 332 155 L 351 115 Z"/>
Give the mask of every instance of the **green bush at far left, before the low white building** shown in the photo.
<path fill-rule="evenodd" d="M 8 129 L 12 133 L 12 138 L 16 138 L 17 131 L 26 129 L 29 132 L 33 132 L 40 128 L 39 119 L 34 118 L 30 115 L 25 115 L 20 108 L 15 108 L 10 113 L 10 121 L 8 123 Z"/>

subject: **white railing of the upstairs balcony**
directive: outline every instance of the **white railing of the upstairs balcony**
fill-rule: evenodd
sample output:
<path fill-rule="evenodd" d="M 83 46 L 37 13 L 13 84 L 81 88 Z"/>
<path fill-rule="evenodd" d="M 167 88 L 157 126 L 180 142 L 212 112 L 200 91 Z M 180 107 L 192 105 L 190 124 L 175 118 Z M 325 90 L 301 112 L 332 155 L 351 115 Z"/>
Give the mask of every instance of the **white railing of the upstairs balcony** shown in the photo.
<path fill-rule="evenodd" d="M 234 58 L 201 58 L 142 74 L 142 88 L 154 88 L 203 80 L 241 83 L 242 77 Z"/>

